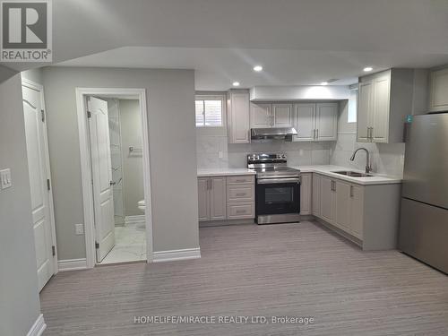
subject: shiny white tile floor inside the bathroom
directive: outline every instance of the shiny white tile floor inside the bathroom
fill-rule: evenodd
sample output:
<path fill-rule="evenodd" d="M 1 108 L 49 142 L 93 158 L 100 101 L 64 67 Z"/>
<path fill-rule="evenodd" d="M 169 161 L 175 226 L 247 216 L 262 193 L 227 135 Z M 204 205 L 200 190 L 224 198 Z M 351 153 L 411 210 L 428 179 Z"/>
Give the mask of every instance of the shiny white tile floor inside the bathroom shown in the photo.
<path fill-rule="evenodd" d="M 146 260 L 144 222 L 115 228 L 116 245 L 99 264 L 127 263 Z"/>

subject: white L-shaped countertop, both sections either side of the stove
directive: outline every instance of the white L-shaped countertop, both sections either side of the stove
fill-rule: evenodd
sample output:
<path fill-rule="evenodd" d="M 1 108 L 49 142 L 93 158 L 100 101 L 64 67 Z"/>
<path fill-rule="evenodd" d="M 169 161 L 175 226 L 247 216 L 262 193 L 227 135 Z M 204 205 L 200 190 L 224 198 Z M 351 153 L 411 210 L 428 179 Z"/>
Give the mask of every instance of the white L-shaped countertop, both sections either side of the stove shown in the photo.
<path fill-rule="evenodd" d="M 356 183 L 358 185 L 392 185 L 401 183 L 400 178 L 396 177 L 384 177 L 381 175 L 374 175 L 373 177 L 348 177 L 345 175 L 340 175 L 333 173 L 333 171 L 340 170 L 350 170 L 358 171 L 363 173 L 363 171 L 353 168 L 332 166 L 332 165 L 315 165 L 315 166 L 290 166 L 291 168 L 300 169 L 302 173 L 319 173 L 327 177 L 334 177 L 340 180 L 345 180 L 351 183 Z M 197 170 L 198 177 L 223 177 L 232 175 L 255 175 L 255 171 L 247 168 L 201 168 Z"/>

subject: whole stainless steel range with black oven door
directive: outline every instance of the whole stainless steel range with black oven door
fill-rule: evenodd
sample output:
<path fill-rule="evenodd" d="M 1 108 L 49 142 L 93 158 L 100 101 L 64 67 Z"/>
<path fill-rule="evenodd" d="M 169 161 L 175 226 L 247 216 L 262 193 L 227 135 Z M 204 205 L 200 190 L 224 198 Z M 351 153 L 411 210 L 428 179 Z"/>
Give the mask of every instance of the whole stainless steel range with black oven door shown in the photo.
<path fill-rule="evenodd" d="M 284 153 L 247 155 L 247 168 L 256 171 L 255 220 L 258 224 L 298 221 L 300 170 L 287 166 Z"/>

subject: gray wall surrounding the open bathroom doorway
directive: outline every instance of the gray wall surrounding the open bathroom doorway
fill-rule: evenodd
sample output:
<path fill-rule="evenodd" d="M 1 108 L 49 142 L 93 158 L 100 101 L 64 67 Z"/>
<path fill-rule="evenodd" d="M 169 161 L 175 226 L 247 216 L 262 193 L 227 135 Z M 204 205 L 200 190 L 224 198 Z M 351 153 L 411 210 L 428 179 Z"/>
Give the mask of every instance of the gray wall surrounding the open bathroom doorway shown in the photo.
<path fill-rule="evenodd" d="M 85 257 L 76 87 L 147 90 L 154 251 L 199 246 L 194 71 L 47 67 L 43 78 L 59 259 Z"/>

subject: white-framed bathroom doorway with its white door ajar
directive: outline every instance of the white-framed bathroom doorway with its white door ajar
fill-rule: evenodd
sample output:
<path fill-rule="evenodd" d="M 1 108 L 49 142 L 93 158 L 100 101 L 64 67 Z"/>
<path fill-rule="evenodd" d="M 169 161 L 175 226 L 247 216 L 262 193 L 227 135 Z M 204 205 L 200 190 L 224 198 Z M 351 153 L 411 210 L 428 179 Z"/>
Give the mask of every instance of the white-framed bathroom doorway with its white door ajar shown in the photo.
<path fill-rule="evenodd" d="M 77 89 L 88 267 L 151 262 L 146 101 L 133 90 Z"/>

